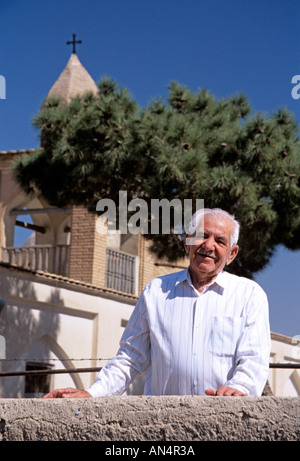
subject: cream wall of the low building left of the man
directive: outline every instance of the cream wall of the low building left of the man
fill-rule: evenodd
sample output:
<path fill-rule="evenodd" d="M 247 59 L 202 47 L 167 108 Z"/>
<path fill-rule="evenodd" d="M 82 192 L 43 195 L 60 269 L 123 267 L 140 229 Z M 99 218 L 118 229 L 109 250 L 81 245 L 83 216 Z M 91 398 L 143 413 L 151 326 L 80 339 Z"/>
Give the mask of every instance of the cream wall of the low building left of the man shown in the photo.
<path fill-rule="evenodd" d="M 2 372 L 24 370 L 26 360 L 32 359 L 58 369 L 103 366 L 117 352 L 136 301 L 109 290 L 3 265 L 0 292 L 5 303 L 0 334 L 6 342 Z M 87 388 L 95 375 L 52 375 L 51 387 Z M 2 378 L 0 395 L 24 396 L 24 378 Z"/>

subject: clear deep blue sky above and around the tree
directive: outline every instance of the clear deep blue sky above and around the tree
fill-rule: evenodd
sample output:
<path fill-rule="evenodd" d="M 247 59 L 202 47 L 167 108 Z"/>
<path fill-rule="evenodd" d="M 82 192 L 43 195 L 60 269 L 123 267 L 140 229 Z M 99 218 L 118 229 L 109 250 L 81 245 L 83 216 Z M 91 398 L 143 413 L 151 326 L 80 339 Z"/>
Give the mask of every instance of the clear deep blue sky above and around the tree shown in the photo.
<path fill-rule="evenodd" d="M 291 83 L 300 74 L 298 0 L 0 0 L 0 150 L 39 145 L 32 127 L 77 54 L 99 81 L 125 86 L 145 106 L 177 81 L 217 98 L 246 94 L 253 111 L 287 107 L 300 124 Z M 256 280 L 269 296 L 272 331 L 300 335 L 300 252 L 279 248 Z"/>

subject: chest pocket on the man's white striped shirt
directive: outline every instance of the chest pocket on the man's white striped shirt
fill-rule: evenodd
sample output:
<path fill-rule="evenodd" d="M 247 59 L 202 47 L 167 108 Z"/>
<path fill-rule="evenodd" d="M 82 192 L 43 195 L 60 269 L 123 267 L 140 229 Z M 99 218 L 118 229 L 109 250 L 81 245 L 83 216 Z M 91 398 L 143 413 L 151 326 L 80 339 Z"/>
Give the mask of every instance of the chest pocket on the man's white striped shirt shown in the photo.
<path fill-rule="evenodd" d="M 212 317 L 210 352 L 219 357 L 233 356 L 242 333 L 243 323 L 241 317 Z"/>

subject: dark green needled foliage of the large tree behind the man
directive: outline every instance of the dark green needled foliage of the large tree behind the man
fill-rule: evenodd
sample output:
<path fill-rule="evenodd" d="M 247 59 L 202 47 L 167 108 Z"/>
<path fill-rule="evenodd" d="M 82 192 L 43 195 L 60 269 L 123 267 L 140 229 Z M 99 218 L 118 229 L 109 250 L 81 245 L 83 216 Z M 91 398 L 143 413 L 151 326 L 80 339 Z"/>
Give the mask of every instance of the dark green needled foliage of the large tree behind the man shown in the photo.
<path fill-rule="evenodd" d="M 229 266 L 251 277 L 274 248 L 300 248 L 300 144 L 295 120 L 278 110 L 251 115 L 244 95 L 216 100 L 172 82 L 168 101 L 145 109 L 110 79 L 99 95 L 49 100 L 35 119 L 41 149 L 14 167 L 27 193 L 57 206 L 101 198 L 202 198 L 241 222 L 240 252 Z M 148 235 L 158 257 L 184 254 L 176 235 Z"/>

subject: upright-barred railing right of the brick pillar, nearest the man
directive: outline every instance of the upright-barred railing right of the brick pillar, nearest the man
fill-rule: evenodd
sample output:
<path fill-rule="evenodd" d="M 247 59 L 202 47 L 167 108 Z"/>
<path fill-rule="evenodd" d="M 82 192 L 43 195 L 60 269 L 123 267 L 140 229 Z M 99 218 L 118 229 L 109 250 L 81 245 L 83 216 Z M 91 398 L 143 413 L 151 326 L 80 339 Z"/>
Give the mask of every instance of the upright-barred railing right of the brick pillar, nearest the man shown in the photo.
<path fill-rule="evenodd" d="M 137 293 L 138 258 L 122 251 L 107 248 L 105 284 L 107 288 Z"/>

